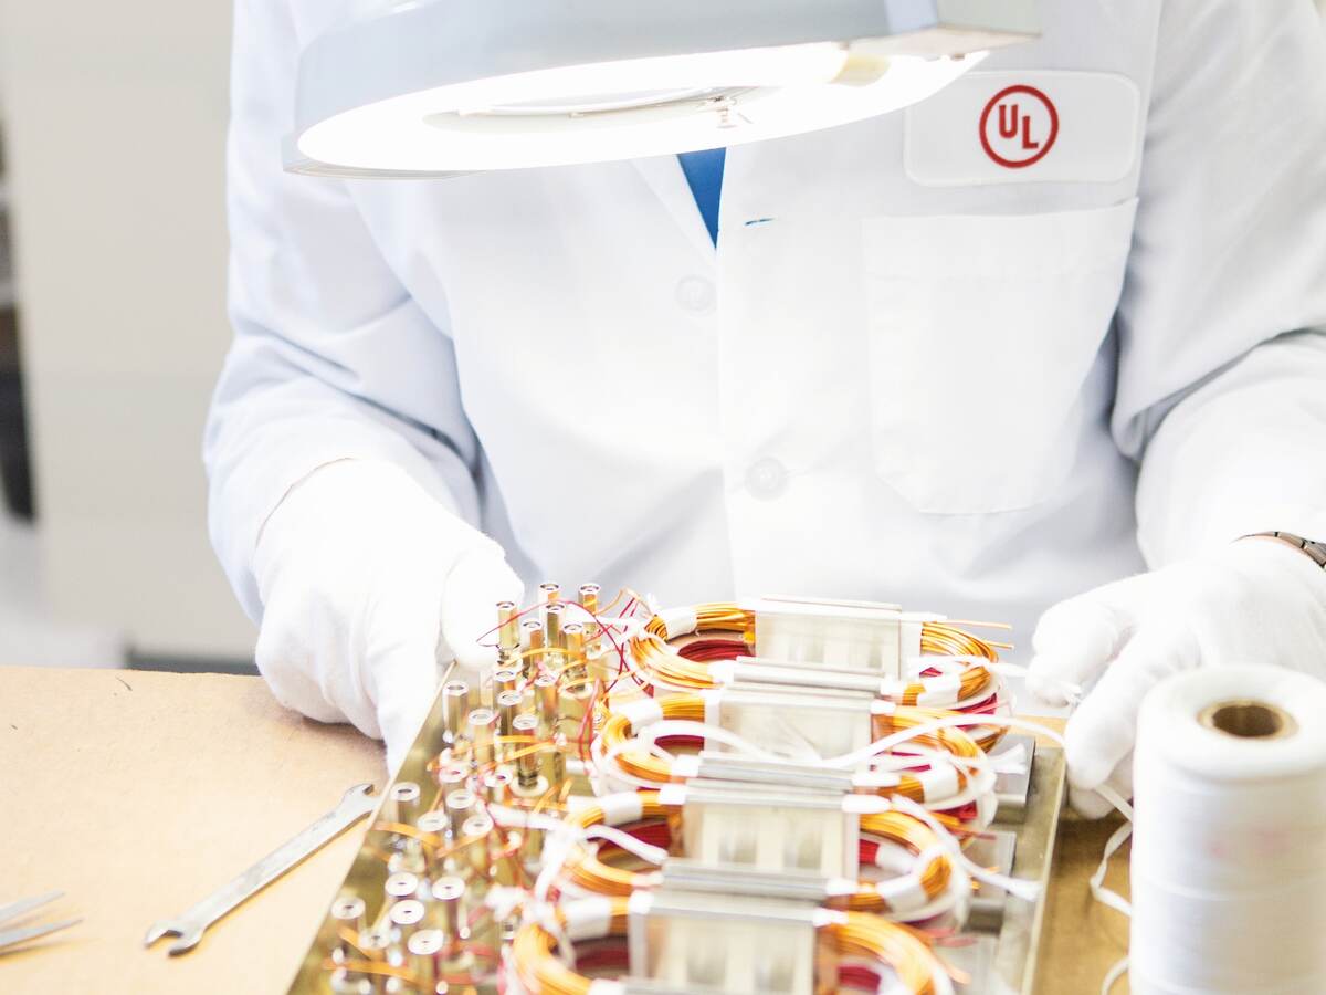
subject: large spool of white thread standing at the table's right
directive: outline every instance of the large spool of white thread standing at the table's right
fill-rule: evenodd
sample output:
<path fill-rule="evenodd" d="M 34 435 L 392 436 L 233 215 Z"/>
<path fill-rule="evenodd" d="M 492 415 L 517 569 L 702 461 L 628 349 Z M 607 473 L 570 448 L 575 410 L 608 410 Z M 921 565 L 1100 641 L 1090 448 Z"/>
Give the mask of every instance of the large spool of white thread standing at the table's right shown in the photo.
<path fill-rule="evenodd" d="M 1134 762 L 1135 995 L 1326 992 L 1326 683 L 1180 674 Z"/>

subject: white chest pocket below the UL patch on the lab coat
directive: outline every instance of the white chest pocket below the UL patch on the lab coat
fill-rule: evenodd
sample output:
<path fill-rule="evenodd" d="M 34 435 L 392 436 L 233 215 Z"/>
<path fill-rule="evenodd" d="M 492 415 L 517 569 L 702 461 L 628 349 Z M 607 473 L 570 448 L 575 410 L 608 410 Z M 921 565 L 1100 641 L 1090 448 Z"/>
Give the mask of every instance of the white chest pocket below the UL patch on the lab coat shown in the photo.
<path fill-rule="evenodd" d="M 918 511 L 1016 511 L 1067 476 L 1135 210 L 866 219 L 875 466 Z"/>

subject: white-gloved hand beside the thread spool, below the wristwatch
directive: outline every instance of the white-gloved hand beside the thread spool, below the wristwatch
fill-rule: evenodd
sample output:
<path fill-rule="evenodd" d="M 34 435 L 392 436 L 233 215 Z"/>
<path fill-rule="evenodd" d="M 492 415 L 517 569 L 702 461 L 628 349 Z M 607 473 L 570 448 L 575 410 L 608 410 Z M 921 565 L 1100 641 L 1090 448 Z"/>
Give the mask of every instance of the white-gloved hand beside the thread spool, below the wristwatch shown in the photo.
<path fill-rule="evenodd" d="M 1032 694 L 1065 704 L 1065 683 L 1090 689 L 1066 739 L 1073 807 L 1097 819 L 1111 808 L 1099 785 L 1132 796 L 1138 710 L 1166 677 L 1249 663 L 1326 677 L 1326 570 L 1276 539 L 1241 539 L 1055 605 L 1032 643 Z"/>

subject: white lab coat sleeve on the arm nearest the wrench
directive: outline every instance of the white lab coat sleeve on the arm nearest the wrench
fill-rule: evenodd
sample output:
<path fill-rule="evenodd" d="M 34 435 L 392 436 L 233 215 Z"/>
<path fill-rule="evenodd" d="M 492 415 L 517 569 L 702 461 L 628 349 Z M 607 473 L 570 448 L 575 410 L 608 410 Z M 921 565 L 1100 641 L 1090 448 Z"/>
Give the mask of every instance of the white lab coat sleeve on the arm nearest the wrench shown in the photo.
<path fill-rule="evenodd" d="M 349 184 L 282 171 L 301 42 L 292 7 L 236 5 L 227 155 L 235 340 L 204 440 L 212 541 L 255 621 L 263 524 L 326 463 L 390 462 L 446 511 L 479 523 L 480 454 L 450 338 L 392 275 Z"/>

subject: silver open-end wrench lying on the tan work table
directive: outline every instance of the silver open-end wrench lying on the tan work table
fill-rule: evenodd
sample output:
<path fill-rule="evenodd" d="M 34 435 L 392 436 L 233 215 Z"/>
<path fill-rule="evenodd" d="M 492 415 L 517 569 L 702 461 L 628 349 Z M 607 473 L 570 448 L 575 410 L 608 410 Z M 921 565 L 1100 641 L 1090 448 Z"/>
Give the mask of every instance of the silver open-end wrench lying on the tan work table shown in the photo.
<path fill-rule="evenodd" d="M 179 937 L 170 953 L 183 954 L 198 946 L 203 931 L 231 909 L 261 892 L 285 872 L 325 846 L 351 825 L 378 807 L 371 784 L 355 784 L 345 793 L 334 809 L 313 823 L 289 842 L 272 850 L 224 888 L 213 892 L 188 911 L 170 919 L 158 919 L 143 937 L 143 946 L 151 946 L 168 933 Z"/>

